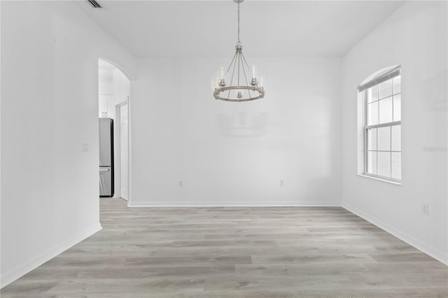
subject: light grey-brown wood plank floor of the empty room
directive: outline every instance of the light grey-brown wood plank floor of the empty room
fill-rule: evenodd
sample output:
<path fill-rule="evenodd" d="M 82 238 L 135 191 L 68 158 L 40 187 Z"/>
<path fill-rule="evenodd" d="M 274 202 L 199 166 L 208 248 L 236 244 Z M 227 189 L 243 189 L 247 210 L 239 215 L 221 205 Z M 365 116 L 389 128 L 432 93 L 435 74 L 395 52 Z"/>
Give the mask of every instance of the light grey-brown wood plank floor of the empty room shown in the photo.
<path fill-rule="evenodd" d="M 1 297 L 448 297 L 448 269 L 344 208 L 127 208 Z"/>

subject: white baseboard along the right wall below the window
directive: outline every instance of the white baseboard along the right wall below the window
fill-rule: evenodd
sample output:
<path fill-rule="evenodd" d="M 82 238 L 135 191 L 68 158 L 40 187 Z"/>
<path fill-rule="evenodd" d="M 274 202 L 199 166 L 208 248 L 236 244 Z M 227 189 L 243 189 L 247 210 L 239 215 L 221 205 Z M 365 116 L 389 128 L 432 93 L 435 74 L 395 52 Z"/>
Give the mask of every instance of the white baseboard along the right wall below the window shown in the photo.
<path fill-rule="evenodd" d="M 375 218 L 370 214 L 360 211 L 358 208 L 353 207 L 350 204 L 342 203 L 342 207 L 350 211 L 351 213 L 358 215 L 360 218 L 367 220 L 373 225 L 376 225 L 377 227 L 384 229 L 384 231 L 388 232 L 389 234 L 392 234 L 398 239 L 405 241 L 410 246 L 414 246 L 414 248 L 421 250 L 423 253 L 426 253 L 426 255 L 435 258 L 435 260 L 448 265 L 447 253 L 444 253 L 442 250 L 434 248 L 433 246 L 428 246 L 428 244 L 423 243 L 419 239 L 416 239 L 414 236 L 402 232 L 400 229 L 388 225 L 386 222 L 383 222 L 382 220 L 379 220 L 378 218 Z"/>

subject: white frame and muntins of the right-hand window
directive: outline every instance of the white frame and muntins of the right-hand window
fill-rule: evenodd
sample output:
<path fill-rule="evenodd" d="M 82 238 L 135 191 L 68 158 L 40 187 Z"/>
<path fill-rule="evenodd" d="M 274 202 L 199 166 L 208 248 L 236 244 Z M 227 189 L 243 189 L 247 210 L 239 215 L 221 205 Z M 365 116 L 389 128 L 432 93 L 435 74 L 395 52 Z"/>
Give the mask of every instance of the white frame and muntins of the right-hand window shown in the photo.
<path fill-rule="evenodd" d="M 368 80 L 366 83 L 363 83 L 362 85 L 358 86 L 358 94 L 360 94 L 360 99 L 362 101 L 362 113 L 363 113 L 363 120 L 362 120 L 362 129 L 363 129 L 363 171 L 361 173 L 360 176 L 367 176 L 368 178 L 374 178 L 376 180 L 384 180 L 386 182 L 391 182 L 391 183 L 396 183 L 396 184 L 401 184 L 401 179 L 398 178 L 393 178 L 393 177 L 388 177 L 388 176 L 381 176 L 381 175 L 377 175 L 374 173 L 368 173 L 367 172 L 367 153 L 371 150 L 368 150 L 368 142 L 367 142 L 367 131 L 368 129 L 377 129 L 380 127 L 392 127 L 395 125 L 401 125 L 401 120 L 399 121 L 392 121 L 392 122 L 384 122 L 381 124 L 377 124 L 377 125 L 367 125 L 367 120 L 368 120 L 368 116 L 367 116 L 367 104 L 369 104 L 367 102 L 367 90 L 369 90 L 371 87 L 374 87 L 375 85 L 379 85 L 379 83 L 383 83 L 386 80 L 390 80 L 391 78 L 396 78 L 398 76 L 401 76 L 401 66 L 395 66 L 392 68 L 389 68 L 386 72 L 381 73 L 381 75 L 379 76 L 375 76 L 373 79 Z M 401 94 L 401 92 L 400 92 Z M 395 95 L 395 94 L 393 94 Z M 381 99 L 378 99 L 378 101 L 380 101 Z M 371 104 L 371 103 L 370 103 Z M 392 106 L 393 109 L 393 106 Z M 379 110 L 379 107 L 378 107 Z M 401 108 L 400 108 L 401 110 Z M 401 118 L 400 118 L 401 119 Z M 392 139 L 392 134 L 391 134 L 391 139 Z M 391 142 L 392 143 L 392 142 Z M 400 146 L 401 146 L 401 140 L 400 140 Z M 381 152 L 381 150 L 374 150 L 376 152 Z M 393 151 L 391 148 L 391 158 L 392 158 L 392 152 L 398 152 L 398 151 Z M 402 152 L 401 150 L 399 152 Z M 378 158 L 378 157 L 377 157 Z M 400 163 L 400 167 L 401 167 L 401 163 Z M 391 162 L 391 169 L 392 169 L 392 162 Z M 392 176 L 392 170 L 391 170 L 391 176 Z"/>

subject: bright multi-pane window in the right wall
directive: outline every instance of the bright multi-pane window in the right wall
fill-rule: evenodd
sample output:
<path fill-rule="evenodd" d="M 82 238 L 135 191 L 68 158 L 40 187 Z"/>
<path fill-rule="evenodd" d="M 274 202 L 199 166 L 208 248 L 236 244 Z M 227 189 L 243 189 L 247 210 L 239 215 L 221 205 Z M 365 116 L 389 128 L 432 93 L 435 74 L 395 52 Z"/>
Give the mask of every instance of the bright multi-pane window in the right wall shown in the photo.
<path fill-rule="evenodd" d="M 364 174 L 400 182 L 400 66 L 360 85 L 358 90 L 364 112 Z"/>

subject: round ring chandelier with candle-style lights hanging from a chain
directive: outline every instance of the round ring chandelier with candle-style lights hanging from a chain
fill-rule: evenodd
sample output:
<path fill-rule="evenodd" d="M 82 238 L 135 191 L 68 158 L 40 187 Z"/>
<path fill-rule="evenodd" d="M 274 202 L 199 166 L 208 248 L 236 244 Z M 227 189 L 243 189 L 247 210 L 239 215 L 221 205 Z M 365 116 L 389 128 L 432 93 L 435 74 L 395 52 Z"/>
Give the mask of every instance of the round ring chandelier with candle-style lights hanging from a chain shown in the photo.
<path fill-rule="evenodd" d="M 255 66 L 249 66 L 239 41 L 239 4 L 244 0 L 233 0 L 238 4 L 238 42 L 235 55 L 227 69 L 221 67 L 211 83 L 215 99 L 223 101 L 252 101 L 265 97 L 262 78 Z"/>

